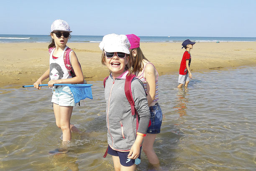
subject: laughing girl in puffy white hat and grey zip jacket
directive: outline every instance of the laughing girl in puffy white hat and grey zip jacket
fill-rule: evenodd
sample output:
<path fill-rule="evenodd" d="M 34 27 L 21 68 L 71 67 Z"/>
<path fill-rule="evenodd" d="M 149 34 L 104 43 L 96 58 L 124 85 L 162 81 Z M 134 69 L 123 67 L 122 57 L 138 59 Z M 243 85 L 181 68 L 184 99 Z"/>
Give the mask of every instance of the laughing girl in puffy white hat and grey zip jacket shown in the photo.
<path fill-rule="evenodd" d="M 102 64 L 110 70 L 110 75 L 104 81 L 106 121 L 108 154 L 112 155 L 116 171 L 135 169 L 135 159 L 140 158 L 141 145 L 150 119 L 143 84 L 134 78 L 130 70 L 130 46 L 126 35 L 116 34 L 105 35 L 99 45 L 103 51 Z M 128 82 L 130 78 L 131 82 Z M 132 94 L 133 107 L 125 93 L 126 83 L 131 86 L 128 92 Z M 132 115 L 134 107 L 137 113 Z"/>

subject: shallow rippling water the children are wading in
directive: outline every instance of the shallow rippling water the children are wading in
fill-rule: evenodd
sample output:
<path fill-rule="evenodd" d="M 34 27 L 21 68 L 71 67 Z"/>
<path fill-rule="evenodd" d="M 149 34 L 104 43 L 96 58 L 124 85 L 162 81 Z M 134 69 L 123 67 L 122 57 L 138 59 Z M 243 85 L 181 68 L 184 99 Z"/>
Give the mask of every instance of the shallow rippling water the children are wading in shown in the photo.
<path fill-rule="evenodd" d="M 188 88 L 176 88 L 178 75 L 159 77 L 164 113 L 154 149 L 162 170 L 255 170 L 256 67 L 192 73 Z M 51 90 L 0 88 L 0 170 L 113 170 L 107 147 L 102 81 L 93 84 L 93 100 L 74 107 L 69 152 L 61 146 Z M 136 170 L 152 170 L 142 152 Z"/>

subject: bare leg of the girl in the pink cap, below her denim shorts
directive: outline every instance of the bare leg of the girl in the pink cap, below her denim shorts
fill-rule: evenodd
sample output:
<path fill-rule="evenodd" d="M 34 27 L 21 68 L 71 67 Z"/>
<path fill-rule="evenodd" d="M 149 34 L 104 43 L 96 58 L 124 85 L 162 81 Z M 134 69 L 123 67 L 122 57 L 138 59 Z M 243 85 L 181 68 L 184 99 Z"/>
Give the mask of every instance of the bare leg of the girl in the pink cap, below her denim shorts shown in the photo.
<path fill-rule="evenodd" d="M 156 153 L 153 149 L 155 139 L 156 139 L 156 134 L 147 133 L 147 136 L 144 137 L 142 149 L 143 149 L 143 152 L 148 157 L 149 163 L 151 163 L 155 168 L 159 168 L 160 167 L 159 159 L 156 156 Z"/>

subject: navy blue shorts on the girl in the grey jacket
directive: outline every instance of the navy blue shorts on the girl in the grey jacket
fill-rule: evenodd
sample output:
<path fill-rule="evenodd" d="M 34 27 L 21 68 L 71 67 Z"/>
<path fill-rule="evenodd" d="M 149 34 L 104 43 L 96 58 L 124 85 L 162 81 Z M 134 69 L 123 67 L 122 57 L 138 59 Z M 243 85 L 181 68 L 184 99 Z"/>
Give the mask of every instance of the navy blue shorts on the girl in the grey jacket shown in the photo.
<path fill-rule="evenodd" d="M 112 156 L 118 156 L 122 166 L 133 166 L 133 164 L 135 164 L 135 159 L 127 158 L 129 153 L 130 153 L 129 151 L 128 152 L 115 151 L 110 146 L 108 146 L 108 154 Z M 141 150 L 138 158 L 141 159 Z"/>

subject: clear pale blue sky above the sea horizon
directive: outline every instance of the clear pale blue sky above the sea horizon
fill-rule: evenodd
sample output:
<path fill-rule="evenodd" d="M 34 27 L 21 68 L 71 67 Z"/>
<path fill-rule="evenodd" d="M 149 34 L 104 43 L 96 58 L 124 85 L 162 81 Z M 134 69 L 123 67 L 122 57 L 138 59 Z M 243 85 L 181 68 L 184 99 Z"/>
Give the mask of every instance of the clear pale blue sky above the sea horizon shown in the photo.
<path fill-rule="evenodd" d="M 5 0 L 0 16 L 0 34 L 48 35 L 62 19 L 72 35 L 256 37 L 256 0 Z"/>

